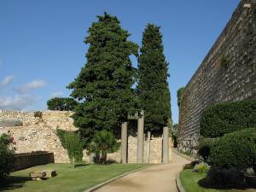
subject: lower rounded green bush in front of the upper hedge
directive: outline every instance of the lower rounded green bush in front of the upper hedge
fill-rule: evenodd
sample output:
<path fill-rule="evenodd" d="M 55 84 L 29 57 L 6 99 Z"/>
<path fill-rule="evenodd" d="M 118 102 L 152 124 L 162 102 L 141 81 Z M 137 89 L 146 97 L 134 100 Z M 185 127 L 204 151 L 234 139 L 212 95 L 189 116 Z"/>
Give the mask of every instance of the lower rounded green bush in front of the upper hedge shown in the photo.
<path fill-rule="evenodd" d="M 245 171 L 256 165 L 256 129 L 226 134 L 213 145 L 210 154 L 212 166 L 236 167 Z"/>

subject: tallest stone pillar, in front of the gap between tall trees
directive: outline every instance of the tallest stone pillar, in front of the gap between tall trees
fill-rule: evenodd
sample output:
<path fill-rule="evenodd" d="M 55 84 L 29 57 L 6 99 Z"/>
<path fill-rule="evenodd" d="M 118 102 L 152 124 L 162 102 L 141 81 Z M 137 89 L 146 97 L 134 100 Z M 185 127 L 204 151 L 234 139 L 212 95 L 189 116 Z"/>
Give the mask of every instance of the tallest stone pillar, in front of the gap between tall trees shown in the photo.
<path fill-rule="evenodd" d="M 144 113 L 137 119 L 137 163 L 143 163 L 144 149 Z"/>

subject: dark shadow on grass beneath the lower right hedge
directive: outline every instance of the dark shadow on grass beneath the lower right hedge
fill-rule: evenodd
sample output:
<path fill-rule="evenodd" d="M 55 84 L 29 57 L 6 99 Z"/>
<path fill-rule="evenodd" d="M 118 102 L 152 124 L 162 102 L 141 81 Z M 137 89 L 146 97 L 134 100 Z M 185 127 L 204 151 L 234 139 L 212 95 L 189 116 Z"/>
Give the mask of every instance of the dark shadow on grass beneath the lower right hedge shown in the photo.
<path fill-rule="evenodd" d="M 198 184 L 202 188 L 206 189 L 240 189 L 240 190 L 245 190 L 245 189 L 256 189 L 256 186 L 247 186 L 245 182 L 240 183 L 231 183 L 231 184 L 218 184 L 212 182 L 212 180 L 209 177 L 202 178 L 201 180 L 198 181 Z"/>

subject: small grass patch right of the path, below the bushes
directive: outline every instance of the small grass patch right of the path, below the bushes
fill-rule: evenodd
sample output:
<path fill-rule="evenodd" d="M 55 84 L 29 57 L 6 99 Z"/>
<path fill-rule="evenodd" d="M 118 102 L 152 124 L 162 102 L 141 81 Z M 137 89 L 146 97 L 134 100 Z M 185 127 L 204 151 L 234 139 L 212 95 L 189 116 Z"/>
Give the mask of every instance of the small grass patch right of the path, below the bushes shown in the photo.
<path fill-rule="evenodd" d="M 206 173 L 192 172 L 191 169 L 183 170 L 180 174 L 181 183 L 186 192 L 256 192 L 256 189 L 206 189 L 198 181 L 206 177 Z"/>

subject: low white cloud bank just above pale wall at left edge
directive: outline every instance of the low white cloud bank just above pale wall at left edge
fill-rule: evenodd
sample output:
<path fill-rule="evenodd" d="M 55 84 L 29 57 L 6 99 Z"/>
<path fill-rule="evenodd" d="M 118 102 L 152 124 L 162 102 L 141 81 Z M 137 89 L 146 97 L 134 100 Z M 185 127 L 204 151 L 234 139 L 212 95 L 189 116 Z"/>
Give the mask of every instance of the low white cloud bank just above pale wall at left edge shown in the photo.
<path fill-rule="evenodd" d="M 21 110 L 31 107 L 36 98 L 30 95 L 0 96 L 0 109 Z"/>

